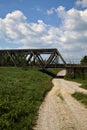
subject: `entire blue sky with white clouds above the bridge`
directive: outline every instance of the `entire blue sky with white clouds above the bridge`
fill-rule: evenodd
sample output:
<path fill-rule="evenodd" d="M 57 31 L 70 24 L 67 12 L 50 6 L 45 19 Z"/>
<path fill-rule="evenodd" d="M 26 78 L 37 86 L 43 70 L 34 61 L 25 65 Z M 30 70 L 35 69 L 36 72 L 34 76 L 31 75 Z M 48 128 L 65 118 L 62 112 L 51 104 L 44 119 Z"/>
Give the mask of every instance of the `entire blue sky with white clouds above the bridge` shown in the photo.
<path fill-rule="evenodd" d="M 87 0 L 0 0 L 0 49 L 57 48 L 87 55 Z"/>

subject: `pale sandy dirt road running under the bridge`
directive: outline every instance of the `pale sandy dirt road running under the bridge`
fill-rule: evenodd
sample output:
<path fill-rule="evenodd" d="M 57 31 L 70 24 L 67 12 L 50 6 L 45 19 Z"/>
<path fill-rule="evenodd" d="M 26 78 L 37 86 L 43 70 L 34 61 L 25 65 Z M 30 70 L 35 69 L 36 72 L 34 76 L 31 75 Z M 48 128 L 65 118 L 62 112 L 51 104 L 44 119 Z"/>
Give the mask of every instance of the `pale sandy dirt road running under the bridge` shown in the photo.
<path fill-rule="evenodd" d="M 58 73 L 64 75 L 65 70 Z M 42 103 L 34 130 L 87 130 L 87 109 L 71 94 L 87 90 L 80 84 L 64 79 L 53 79 L 54 87 Z"/>

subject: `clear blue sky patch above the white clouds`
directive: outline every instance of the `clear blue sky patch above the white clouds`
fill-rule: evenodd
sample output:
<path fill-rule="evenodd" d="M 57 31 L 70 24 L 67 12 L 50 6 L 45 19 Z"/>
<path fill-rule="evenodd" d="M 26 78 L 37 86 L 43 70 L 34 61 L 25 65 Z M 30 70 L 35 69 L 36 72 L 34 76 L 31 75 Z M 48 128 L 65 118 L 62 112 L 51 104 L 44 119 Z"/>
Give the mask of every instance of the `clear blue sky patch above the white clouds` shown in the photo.
<path fill-rule="evenodd" d="M 48 17 L 46 11 L 52 7 L 64 6 L 66 9 L 70 9 L 75 6 L 75 0 L 1 0 L 0 2 L 0 17 L 4 18 L 6 14 L 15 10 L 20 10 L 27 17 L 29 22 L 37 22 L 38 19 L 42 19 L 47 24 L 58 23 L 53 19 L 57 17 Z"/>

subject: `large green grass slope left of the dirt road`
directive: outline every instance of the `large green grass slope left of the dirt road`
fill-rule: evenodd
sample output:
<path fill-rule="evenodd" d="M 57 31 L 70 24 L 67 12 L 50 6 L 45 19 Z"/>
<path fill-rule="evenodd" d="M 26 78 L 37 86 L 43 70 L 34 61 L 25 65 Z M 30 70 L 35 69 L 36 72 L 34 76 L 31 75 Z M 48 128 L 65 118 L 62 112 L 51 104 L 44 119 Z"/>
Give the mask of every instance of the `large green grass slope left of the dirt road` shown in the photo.
<path fill-rule="evenodd" d="M 0 68 L 0 130 L 32 130 L 52 77 L 38 69 Z"/>

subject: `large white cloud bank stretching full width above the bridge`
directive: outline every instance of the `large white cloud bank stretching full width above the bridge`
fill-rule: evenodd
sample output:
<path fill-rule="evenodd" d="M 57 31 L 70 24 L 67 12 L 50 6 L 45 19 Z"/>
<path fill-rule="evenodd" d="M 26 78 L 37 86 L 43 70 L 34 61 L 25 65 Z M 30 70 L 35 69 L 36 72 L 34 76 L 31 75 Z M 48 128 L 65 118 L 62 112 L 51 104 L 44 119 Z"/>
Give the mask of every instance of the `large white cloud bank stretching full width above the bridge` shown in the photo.
<path fill-rule="evenodd" d="M 87 10 L 54 9 L 61 17 L 62 25 L 54 27 L 42 20 L 27 22 L 21 11 L 14 11 L 0 18 L 0 38 L 9 44 L 19 44 L 20 48 L 58 48 L 66 57 L 82 57 L 87 53 Z"/>

